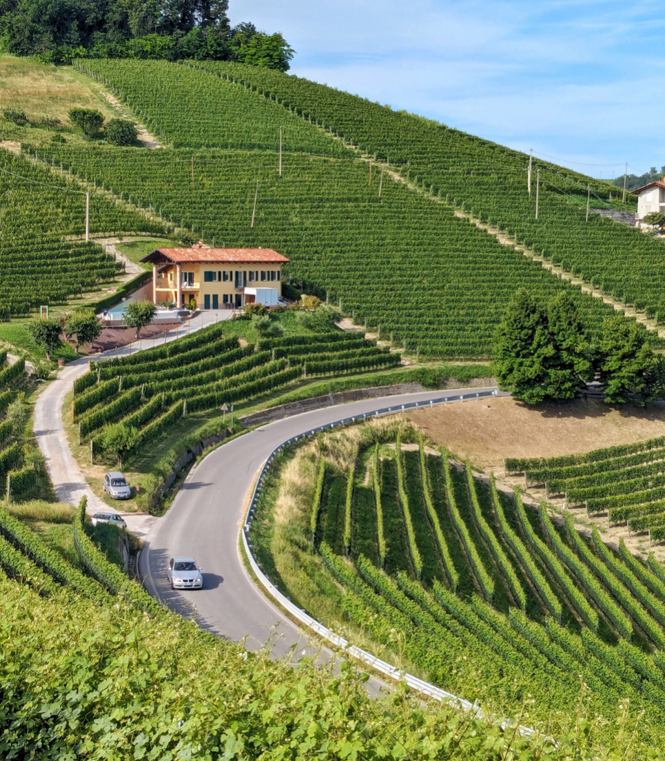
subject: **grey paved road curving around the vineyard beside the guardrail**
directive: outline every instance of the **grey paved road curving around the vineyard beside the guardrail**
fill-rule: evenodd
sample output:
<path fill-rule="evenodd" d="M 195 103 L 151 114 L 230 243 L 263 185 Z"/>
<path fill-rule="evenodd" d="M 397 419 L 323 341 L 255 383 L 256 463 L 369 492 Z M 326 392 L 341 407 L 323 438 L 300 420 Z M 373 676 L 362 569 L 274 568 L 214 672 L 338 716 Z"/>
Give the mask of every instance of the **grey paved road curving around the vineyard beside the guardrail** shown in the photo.
<path fill-rule="evenodd" d="M 492 390 L 456 389 L 450 398 Z M 445 393 L 438 390 L 386 396 L 304 412 L 256 428 L 208 454 L 189 473 L 170 510 L 145 539 L 139 568 L 148 591 L 172 610 L 196 616 L 201 626 L 216 635 L 246 639 L 250 649 L 270 641 L 279 655 L 300 644 L 298 626 L 259 591 L 238 549 L 250 489 L 261 466 L 275 447 L 317 426 L 388 406 L 398 412 L 403 404 L 441 399 Z M 167 562 L 178 555 L 194 556 L 202 565 L 201 591 L 170 589 Z"/>

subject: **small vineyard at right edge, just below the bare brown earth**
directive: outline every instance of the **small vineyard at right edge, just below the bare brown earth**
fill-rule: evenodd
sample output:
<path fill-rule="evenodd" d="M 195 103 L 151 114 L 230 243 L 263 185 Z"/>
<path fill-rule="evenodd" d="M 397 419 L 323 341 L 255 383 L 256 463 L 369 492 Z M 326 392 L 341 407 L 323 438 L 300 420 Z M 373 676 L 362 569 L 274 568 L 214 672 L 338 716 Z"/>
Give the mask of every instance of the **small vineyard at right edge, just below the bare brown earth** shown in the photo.
<path fill-rule="evenodd" d="M 608 524 L 665 540 L 665 437 L 549 460 L 508 459 L 506 468 L 550 495 L 564 495 L 571 508 L 604 512 Z"/>

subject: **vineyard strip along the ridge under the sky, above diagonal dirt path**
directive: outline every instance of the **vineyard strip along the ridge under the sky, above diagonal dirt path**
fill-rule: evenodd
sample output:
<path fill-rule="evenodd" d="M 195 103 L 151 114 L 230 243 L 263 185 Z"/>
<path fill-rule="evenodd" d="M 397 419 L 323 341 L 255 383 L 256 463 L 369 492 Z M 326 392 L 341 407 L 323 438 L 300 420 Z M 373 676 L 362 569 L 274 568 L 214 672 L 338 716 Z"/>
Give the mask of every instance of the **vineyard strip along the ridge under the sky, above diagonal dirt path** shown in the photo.
<path fill-rule="evenodd" d="M 601 206 L 609 205 L 616 187 L 536 160 L 529 196 L 525 154 L 292 75 L 229 63 L 205 62 L 202 67 L 343 135 L 451 205 L 508 231 L 648 317 L 659 314 L 665 321 L 662 244 L 608 218 L 592 215 L 585 221 L 587 186 L 592 205 Z M 635 209 L 635 199 L 629 196 L 629 201 L 628 208 Z"/>

